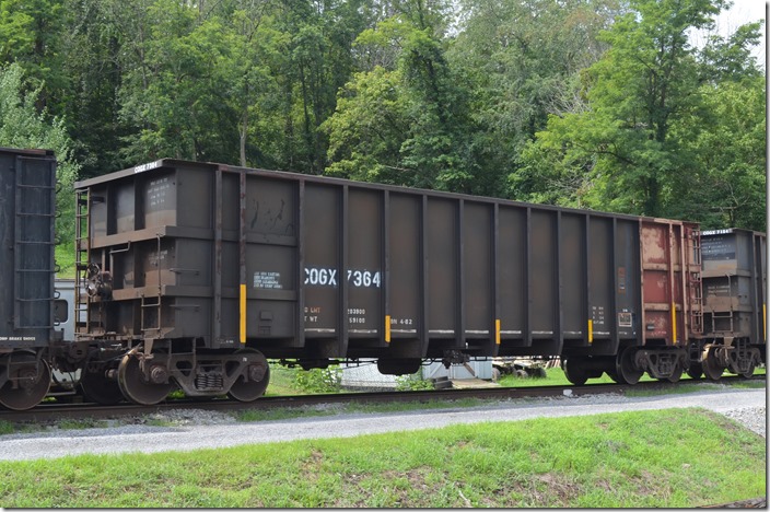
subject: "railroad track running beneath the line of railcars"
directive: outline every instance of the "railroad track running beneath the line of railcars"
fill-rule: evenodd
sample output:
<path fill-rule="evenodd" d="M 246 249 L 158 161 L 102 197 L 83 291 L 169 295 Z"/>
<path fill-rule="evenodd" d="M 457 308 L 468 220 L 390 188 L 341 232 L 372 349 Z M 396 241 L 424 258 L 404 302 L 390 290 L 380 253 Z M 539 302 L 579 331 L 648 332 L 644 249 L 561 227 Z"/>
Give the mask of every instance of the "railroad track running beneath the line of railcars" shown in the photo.
<path fill-rule="evenodd" d="M 752 380 L 765 380 L 765 375 L 757 375 Z M 722 384 L 736 384 L 746 382 L 745 379 L 726 376 L 720 380 Z M 271 410 L 320 404 L 386 404 L 386 403 L 427 403 L 476 399 L 511 399 L 511 398 L 542 398 L 556 396 L 582 396 L 598 394 L 625 394 L 634 391 L 664 391 L 672 389 L 682 384 L 713 384 L 712 381 L 681 381 L 676 384 L 664 382 L 642 382 L 633 386 L 621 384 L 588 384 L 583 386 L 535 386 L 535 387 L 481 387 L 468 389 L 435 389 L 413 392 L 371 392 L 371 393 L 343 393 L 329 395 L 298 395 L 298 396 L 267 396 L 252 403 L 242 403 L 231 399 L 194 400 L 188 398 L 168 399 L 155 406 L 138 406 L 133 404 L 119 404 L 101 406 L 97 404 L 58 404 L 43 403 L 37 407 L 24 410 L 0 410 L 0 421 L 12 423 L 20 422 L 51 422 L 59 419 L 117 419 L 132 416 L 144 416 L 153 412 L 163 412 L 171 409 L 202 409 L 213 411 L 242 411 L 242 410 Z"/>

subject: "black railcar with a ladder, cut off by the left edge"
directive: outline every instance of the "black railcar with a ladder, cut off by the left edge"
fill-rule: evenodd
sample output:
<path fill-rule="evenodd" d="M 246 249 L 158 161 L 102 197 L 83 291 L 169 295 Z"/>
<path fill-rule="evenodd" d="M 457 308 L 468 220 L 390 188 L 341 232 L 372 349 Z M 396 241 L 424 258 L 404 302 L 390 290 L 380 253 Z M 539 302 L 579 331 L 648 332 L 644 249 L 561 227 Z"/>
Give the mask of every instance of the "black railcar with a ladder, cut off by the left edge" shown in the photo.
<path fill-rule="evenodd" d="M 0 148 L 0 405 L 28 409 L 48 392 L 54 330 L 56 159 Z"/>

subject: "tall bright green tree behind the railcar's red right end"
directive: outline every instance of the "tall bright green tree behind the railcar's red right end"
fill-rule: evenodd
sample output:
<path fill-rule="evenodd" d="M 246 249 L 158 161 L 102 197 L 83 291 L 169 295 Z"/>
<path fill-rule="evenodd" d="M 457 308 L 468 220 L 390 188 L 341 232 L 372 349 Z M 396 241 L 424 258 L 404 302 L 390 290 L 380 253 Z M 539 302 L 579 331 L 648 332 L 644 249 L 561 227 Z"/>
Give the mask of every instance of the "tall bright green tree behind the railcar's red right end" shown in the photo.
<path fill-rule="evenodd" d="M 588 108 L 551 116 L 525 151 L 524 168 L 572 184 L 568 202 L 667 216 L 681 211 L 684 200 L 697 199 L 680 186 L 699 172 L 691 140 L 710 108 L 701 94 L 708 73 L 688 31 L 711 26 L 725 2 L 633 0 L 630 5 L 632 12 L 603 35 L 608 51 L 582 75 Z M 731 61 L 752 74 L 752 62 Z M 692 130 L 673 129 L 687 120 L 696 123 Z"/>

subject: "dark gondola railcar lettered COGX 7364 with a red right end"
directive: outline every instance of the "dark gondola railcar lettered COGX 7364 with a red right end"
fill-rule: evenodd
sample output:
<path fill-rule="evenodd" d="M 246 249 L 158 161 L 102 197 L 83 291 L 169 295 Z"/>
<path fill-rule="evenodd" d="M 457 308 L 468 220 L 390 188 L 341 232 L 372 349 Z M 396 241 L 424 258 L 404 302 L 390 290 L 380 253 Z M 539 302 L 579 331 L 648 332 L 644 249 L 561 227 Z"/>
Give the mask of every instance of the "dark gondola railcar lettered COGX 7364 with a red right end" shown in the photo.
<path fill-rule="evenodd" d="M 143 404 L 254 399 L 267 358 L 676 380 L 701 327 L 692 223 L 167 159 L 75 187 L 77 333 L 126 347 L 92 385 Z"/>

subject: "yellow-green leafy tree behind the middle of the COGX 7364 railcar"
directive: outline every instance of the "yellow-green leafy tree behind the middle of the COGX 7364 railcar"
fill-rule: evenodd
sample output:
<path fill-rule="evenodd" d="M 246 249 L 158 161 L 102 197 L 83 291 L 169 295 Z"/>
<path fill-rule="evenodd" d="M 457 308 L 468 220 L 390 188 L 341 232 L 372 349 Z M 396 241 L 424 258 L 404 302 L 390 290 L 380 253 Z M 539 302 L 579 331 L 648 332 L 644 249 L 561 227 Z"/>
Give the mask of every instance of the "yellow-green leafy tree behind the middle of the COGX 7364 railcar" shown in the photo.
<path fill-rule="evenodd" d="M 377 65 L 357 74 L 340 94 L 323 126 L 330 140 L 327 172 L 483 194 L 470 144 L 468 90 L 436 35 L 441 16 L 419 0 L 401 8 L 357 39 L 359 56 L 389 69 Z"/>

